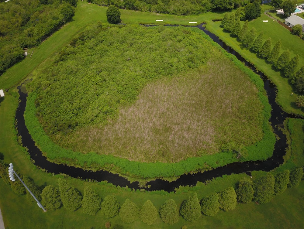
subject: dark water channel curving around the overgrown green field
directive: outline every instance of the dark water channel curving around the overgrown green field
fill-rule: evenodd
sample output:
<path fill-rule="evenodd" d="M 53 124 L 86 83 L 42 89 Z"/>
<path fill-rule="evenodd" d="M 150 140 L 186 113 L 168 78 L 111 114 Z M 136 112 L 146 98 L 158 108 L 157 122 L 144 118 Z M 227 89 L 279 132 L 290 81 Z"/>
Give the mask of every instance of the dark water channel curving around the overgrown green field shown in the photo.
<path fill-rule="evenodd" d="M 278 106 L 278 104 L 275 103 L 275 97 L 276 97 L 275 85 L 272 84 L 263 73 L 256 71 L 254 66 L 248 63 L 242 56 L 240 56 L 239 53 L 235 52 L 232 48 L 230 48 L 225 43 L 223 43 L 223 41 L 220 40 L 217 36 L 207 31 L 203 27 L 203 24 L 200 24 L 196 27 L 203 30 L 216 43 L 222 46 L 223 49 L 235 55 L 240 61 L 244 62 L 246 66 L 250 67 L 253 71 L 255 71 L 257 74 L 261 76 L 262 80 L 264 81 L 264 88 L 267 91 L 269 104 L 271 105 L 272 108 L 271 118 L 269 121 L 271 122 L 275 134 L 278 135 L 279 140 L 277 140 L 275 143 L 275 150 L 273 152 L 273 156 L 266 161 L 235 162 L 223 167 L 206 171 L 204 173 L 199 172 L 196 174 L 184 174 L 181 175 L 180 178 L 172 182 L 168 182 L 162 179 L 156 179 L 147 183 L 147 185 L 149 185 L 149 188 L 143 188 L 148 191 L 165 190 L 170 192 L 170 191 L 174 191 L 174 189 L 178 186 L 186 186 L 186 185 L 194 186 L 198 181 L 205 182 L 212 178 L 223 175 L 230 175 L 232 173 L 250 174 L 251 171 L 254 170 L 270 171 L 283 163 L 283 156 L 285 155 L 285 148 L 287 147 L 286 136 L 282 133 L 281 130 L 278 129 L 278 127 L 280 126 L 283 127 L 283 122 L 285 118 L 295 117 L 295 116 L 288 115 L 287 113 L 282 111 L 282 109 L 280 108 L 280 106 Z M 113 174 L 107 171 L 100 170 L 100 171 L 92 172 L 72 166 L 49 162 L 47 158 L 42 155 L 40 149 L 38 149 L 38 147 L 35 145 L 35 142 L 33 141 L 25 125 L 23 115 L 26 107 L 27 93 L 24 84 L 20 85 L 18 89 L 20 94 L 20 98 L 19 98 L 20 103 L 16 111 L 16 120 L 17 120 L 16 127 L 19 132 L 19 135 L 21 135 L 22 137 L 23 146 L 28 148 L 29 154 L 31 158 L 35 161 L 34 164 L 36 166 L 39 166 L 42 169 L 46 169 L 47 172 L 49 173 L 54 173 L 54 174 L 64 173 L 75 178 L 92 179 L 96 181 L 106 180 L 109 183 L 121 187 L 128 186 L 129 188 L 134 188 L 134 189 L 142 188 L 139 187 L 138 182 L 130 183 L 130 181 L 128 181 L 126 178 L 123 178 L 117 174 Z"/>

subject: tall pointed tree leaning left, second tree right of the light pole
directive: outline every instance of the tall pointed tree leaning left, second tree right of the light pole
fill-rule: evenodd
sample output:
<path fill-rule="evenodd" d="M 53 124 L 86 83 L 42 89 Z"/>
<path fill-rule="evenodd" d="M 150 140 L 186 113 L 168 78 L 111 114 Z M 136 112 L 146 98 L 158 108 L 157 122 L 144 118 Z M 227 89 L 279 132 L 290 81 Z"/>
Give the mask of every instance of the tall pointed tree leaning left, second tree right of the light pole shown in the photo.
<path fill-rule="evenodd" d="M 63 206 L 69 210 L 74 211 L 81 206 L 81 195 L 73 186 L 68 184 L 64 179 L 59 178 L 60 197 Z"/>

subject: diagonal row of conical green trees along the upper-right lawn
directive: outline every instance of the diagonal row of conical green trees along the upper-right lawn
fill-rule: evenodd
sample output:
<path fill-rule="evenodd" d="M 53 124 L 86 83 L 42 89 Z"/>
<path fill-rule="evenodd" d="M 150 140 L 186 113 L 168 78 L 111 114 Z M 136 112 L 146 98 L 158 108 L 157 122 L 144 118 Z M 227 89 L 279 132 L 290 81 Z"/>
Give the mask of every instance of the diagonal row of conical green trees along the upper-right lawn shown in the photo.
<path fill-rule="evenodd" d="M 260 57 L 265 58 L 268 63 L 282 72 L 282 75 L 290 80 L 299 94 L 304 93 L 304 66 L 297 70 L 299 66 L 299 55 L 291 58 L 289 50 L 280 54 L 281 40 L 278 40 L 272 47 L 271 37 L 263 43 L 263 31 L 257 35 L 257 30 L 252 27 L 248 29 L 248 20 L 243 27 L 240 26 L 240 12 L 224 15 L 221 26 L 248 49 L 256 52 Z M 301 27 L 302 28 L 302 27 Z M 297 105 L 302 106 L 302 97 L 299 97 Z"/>

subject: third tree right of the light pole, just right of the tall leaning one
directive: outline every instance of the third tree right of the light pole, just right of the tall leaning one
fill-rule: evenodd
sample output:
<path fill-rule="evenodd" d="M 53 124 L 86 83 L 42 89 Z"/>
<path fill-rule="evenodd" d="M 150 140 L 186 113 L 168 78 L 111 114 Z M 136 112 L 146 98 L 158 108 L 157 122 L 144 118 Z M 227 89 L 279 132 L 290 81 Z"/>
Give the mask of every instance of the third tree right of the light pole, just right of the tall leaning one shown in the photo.
<path fill-rule="evenodd" d="M 81 207 L 83 213 L 88 215 L 95 215 L 101 208 L 101 198 L 90 187 L 85 187 L 83 190 Z"/>

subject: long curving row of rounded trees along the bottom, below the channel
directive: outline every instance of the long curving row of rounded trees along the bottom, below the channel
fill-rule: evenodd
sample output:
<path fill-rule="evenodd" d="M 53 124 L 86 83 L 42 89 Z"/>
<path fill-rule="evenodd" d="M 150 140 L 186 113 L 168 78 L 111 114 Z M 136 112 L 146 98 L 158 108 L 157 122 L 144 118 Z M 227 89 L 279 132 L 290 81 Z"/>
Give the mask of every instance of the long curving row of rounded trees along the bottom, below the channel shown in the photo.
<path fill-rule="evenodd" d="M 5 183 L 12 186 L 12 190 L 17 194 L 25 194 L 25 189 L 19 180 L 11 182 L 7 175 L 7 165 L 0 161 L 0 175 Z M 224 211 L 233 210 L 237 206 L 237 201 L 249 203 L 252 200 L 258 203 L 267 203 L 275 195 L 283 193 L 287 187 L 298 186 L 303 177 L 302 167 L 293 171 L 284 170 L 280 173 L 266 173 L 256 180 L 245 178 L 238 184 L 236 190 L 228 187 L 219 193 L 212 193 L 208 197 L 199 198 L 196 193 L 185 200 L 178 211 L 175 200 L 166 200 L 159 210 L 154 204 L 147 200 L 143 203 L 141 209 L 130 199 L 126 199 L 120 206 L 115 196 L 106 196 L 102 201 L 98 193 L 90 187 L 85 187 L 83 196 L 66 180 L 59 178 L 59 188 L 49 185 L 43 188 L 37 186 L 33 180 L 23 177 L 26 185 L 32 190 L 35 196 L 41 200 L 41 203 L 47 210 L 56 210 L 62 205 L 69 211 L 75 211 L 82 208 L 83 213 L 95 215 L 98 210 L 102 210 L 106 218 L 112 218 L 119 215 L 123 223 L 132 223 L 140 219 L 145 224 L 151 225 L 160 215 L 161 220 L 167 224 L 177 223 L 179 214 L 187 221 L 194 222 L 198 220 L 201 214 L 207 216 L 216 215 L 220 209 Z M 33 198 L 28 195 L 30 200 Z"/>

